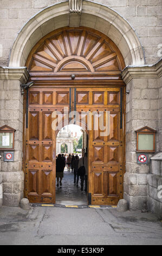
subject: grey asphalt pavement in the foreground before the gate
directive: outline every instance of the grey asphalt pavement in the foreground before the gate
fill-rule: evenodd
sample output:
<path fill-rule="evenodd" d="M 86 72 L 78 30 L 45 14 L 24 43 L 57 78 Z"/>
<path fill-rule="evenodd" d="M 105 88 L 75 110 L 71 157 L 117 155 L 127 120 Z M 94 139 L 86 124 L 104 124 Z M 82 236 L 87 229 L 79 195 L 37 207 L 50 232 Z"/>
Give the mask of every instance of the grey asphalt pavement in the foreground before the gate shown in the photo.
<path fill-rule="evenodd" d="M 150 213 L 115 208 L 2 206 L 0 245 L 162 245 L 162 227 Z"/>

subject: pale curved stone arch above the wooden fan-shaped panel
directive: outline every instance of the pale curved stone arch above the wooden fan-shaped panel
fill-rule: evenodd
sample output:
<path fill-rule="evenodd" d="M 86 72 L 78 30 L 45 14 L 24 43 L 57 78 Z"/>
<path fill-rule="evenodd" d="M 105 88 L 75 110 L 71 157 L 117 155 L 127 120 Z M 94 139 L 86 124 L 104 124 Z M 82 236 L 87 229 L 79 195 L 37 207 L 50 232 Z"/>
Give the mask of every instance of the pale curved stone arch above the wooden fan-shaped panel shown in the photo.
<path fill-rule="evenodd" d="M 70 23 L 70 26 L 72 25 Z M 18 34 L 11 49 L 9 66 L 24 66 L 31 49 L 44 35 L 67 26 L 69 26 L 68 1 L 54 4 L 40 11 L 25 24 Z M 145 64 L 144 52 L 137 34 L 129 23 L 113 9 L 83 1 L 80 26 L 94 28 L 109 36 L 119 47 L 126 65 Z"/>

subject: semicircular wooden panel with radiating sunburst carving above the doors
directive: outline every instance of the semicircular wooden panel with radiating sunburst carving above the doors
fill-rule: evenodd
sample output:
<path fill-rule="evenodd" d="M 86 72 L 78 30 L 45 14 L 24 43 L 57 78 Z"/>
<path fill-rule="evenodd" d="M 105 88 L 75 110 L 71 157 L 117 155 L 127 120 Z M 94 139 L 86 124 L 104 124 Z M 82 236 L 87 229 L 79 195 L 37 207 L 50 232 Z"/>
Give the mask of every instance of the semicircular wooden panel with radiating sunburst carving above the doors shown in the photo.
<path fill-rule="evenodd" d="M 85 27 L 66 27 L 44 36 L 30 52 L 26 65 L 31 76 L 63 72 L 119 74 L 125 68 L 114 42 Z"/>

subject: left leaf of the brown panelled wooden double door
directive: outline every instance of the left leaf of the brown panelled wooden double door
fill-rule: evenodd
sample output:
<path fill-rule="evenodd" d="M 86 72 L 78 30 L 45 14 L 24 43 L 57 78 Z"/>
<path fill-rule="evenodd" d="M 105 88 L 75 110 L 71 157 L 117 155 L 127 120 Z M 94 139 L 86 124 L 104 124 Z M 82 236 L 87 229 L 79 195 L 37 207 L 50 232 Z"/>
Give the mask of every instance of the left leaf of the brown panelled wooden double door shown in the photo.
<path fill-rule="evenodd" d="M 25 196 L 31 203 L 55 203 L 55 147 L 53 111 L 69 107 L 69 88 L 29 90 L 26 113 Z M 28 118 L 29 117 L 29 118 Z"/>

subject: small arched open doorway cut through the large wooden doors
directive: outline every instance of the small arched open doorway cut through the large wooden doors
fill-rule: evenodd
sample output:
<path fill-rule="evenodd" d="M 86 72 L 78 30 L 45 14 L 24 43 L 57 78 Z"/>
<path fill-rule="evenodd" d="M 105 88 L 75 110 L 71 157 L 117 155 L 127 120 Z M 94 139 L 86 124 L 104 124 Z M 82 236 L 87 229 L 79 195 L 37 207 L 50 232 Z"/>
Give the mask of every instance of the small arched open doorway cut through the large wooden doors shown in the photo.
<path fill-rule="evenodd" d="M 60 145 L 67 145 L 66 153 L 59 151 Z M 82 191 L 81 177 L 77 177 L 77 165 L 79 164 L 79 161 L 82 161 L 82 156 L 85 155 L 87 149 L 88 135 L 81 126 L 74 124 L 66 125 L 59 131 L 59 133 L 57 133 L 56 150 L 58 151 L 56 151 L 56 204 L 87 205 L 88 176 L 84 176 Z M 60 174 L 57 173 L 57 157 L 60 153 L 62 153 L 62 163 L 65 160 L 65 167 L 63 174 L 61 174 L 61 185 Z M 76 160 L 76 157 L 78 160 Z M 87 160 L 85 159 L 85 161 Z M 88 170 L 88 163 L 86 168 Z"/>

